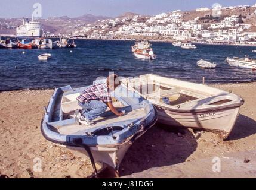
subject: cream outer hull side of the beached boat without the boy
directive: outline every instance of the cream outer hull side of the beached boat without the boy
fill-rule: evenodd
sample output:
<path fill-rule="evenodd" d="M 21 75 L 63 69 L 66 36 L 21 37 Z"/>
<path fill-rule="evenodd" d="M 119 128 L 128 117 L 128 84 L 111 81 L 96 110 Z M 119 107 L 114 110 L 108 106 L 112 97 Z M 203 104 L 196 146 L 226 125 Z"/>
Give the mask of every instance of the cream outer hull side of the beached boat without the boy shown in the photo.
<path fill-rule="evenodd" d="M 158 105 L 155 106 L 158 109 L 158 122 L 161 124 L 212 131 L 219 134 L 223 139 L 229 137 L 240 110 L 239 106 L 220 110 L 206 110 L 205 112 L 197 112 L 195 110 L 189 113 L 182 113 L 178 112 L 178 110 L 174 112 L 163 109 Z"/>

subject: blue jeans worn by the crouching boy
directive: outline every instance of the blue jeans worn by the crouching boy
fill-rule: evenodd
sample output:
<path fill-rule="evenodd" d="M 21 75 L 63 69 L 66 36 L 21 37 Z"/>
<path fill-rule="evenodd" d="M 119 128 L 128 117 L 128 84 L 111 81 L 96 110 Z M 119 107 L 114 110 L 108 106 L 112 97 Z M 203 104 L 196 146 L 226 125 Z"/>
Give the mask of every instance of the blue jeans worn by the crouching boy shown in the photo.
<path fill-rule="evenodd" d="M 80 103 L 78 102 L 78 105 L 82 107 L 83 115 L 85 118 L 89 119 L 90 121 L 98 118 L 101 114 L 106 112 L 107 105 L 104 102 L 98 101 L 98 100 L 91 100 L 90 103 Z"/>

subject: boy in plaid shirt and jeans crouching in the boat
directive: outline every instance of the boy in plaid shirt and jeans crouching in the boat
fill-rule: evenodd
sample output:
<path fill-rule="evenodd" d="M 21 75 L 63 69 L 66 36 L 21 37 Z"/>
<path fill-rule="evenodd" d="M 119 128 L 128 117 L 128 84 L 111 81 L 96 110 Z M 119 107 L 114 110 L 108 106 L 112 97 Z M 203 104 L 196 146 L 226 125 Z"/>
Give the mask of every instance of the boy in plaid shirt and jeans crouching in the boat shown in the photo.
<path fill-rule="evenodd" d="M 115 83 L 118 75 L 113 74 L 107 77 L 106 83 L 95 84 L 83 91 L 80 96 L 76 98 L 82 110 L 77 109 L 75 112 L 75 119 L 77 123 L 85 124 L 87 126 L 94 125 L 94 119 L 106 112 L 107 107 L 115 115 L 122 116 L 122 112 L 118 112 L 113 106 L 110 92 L 114 91 L 116 87 L 121 84 L 119 80 Z"/>

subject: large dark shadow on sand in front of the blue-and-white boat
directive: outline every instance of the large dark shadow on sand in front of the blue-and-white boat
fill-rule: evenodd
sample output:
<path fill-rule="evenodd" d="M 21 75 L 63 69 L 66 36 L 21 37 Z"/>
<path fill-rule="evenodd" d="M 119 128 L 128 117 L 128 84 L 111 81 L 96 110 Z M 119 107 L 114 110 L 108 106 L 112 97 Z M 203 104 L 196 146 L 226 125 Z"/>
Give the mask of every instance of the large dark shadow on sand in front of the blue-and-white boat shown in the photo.
<path fill-rule="evenodd" d="M 128 150 L 119 169 L 120 176 L 185 162 L 196 150 L 196 139 L 189 130 L 156 126 Z M 179 137 L 178 133 L 182 135 Z"/>

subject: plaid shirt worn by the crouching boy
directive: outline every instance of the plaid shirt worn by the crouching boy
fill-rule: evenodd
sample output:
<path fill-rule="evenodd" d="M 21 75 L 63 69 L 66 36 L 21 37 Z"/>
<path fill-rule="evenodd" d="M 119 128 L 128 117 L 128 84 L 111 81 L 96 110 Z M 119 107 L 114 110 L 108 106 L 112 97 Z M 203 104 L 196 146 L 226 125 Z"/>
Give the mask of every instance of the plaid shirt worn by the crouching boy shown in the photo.
<path fill-rule="evenodd" d="M 90 103 L 91 100 L 102 100 L 103 102 L 112 102 L 107 84 L 95 84 L 83 91 L 76 98 L 80 103 Z"/>

